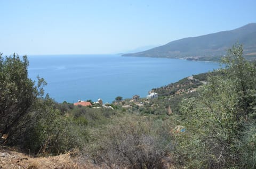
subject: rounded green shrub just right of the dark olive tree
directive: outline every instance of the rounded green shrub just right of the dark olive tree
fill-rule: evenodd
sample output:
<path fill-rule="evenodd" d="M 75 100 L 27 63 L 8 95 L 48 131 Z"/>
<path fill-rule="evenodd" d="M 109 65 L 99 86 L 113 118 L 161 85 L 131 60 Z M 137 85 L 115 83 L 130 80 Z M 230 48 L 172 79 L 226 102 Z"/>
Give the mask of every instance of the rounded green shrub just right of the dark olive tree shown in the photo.
<path fill-rule="evenodd" d="M 26 142 L 37 155 L 58 155 L 74 148 L 81 149 L 88 139 L 86 125 L 86 119 L 62 116 L 58 109 L 50 109 Z"/>

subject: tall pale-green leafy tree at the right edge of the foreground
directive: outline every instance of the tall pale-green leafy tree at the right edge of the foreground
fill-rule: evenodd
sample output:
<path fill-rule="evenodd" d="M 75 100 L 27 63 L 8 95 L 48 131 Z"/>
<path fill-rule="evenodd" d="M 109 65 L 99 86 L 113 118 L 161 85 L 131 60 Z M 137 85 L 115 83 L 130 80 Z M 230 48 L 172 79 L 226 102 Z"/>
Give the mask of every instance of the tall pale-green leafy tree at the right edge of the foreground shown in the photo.
<path fill-rule="evenodd" d="M 190 167 L 245 167 L 242 157 L 246 152 L 241 147 L 245 146 L 246 126 L 255 116 L 256 69 L 244 59 L 242 45 L 229 49 L 222 63 L 226 69 L 218 71 L 225 75 L 212 75 L 198 98 L 181 104 L 188 128 L 181 151 Z"/>

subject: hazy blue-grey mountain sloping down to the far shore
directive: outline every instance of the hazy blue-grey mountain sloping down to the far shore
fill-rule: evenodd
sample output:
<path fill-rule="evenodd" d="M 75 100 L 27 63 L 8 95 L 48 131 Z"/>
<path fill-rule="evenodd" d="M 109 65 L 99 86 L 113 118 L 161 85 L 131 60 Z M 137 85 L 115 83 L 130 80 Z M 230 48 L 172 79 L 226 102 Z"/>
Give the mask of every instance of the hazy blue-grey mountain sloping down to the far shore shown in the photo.
<path fill-rule="evenodd" d="M 138 53 L 123 56 L 192 58 L 218 57 L 226 55 L 227 49 L 235 43 L 244 45 L 245 55 L 256 55 L 256 23 L 241 28 L 208 35 L 189 37 Z M 207 60 L 207 59 L 206 59 Z"/>

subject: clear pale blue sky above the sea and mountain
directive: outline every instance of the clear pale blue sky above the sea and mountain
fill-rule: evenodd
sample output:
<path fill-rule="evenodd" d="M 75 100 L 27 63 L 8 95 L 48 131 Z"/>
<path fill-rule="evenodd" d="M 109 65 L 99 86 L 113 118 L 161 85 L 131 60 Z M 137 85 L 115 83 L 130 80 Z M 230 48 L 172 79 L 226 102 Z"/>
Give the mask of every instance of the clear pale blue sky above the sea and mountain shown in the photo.
<path fill-rule="evenodd" d="M 125 53 L 256 22 L 255 6 L 255 0 L 0 0 L 0 52 Z"/>

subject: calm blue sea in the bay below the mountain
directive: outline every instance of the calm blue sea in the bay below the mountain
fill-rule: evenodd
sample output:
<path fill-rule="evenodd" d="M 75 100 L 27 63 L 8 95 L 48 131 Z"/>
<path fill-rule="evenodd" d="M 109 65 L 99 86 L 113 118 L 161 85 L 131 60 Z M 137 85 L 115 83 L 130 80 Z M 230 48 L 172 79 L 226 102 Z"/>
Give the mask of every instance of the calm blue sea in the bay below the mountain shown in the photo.
<path fill-rule="evenodd" d="M 101 98 L 112 102 L 116 96 L 146 97 L 161 87 L 192 74 L 218 69 L 218 63 L 167 58 L 122 57 L 119 55 L 28 56 L 29 77 L 47 81 L 44 88 L 57 102 Z"/>

